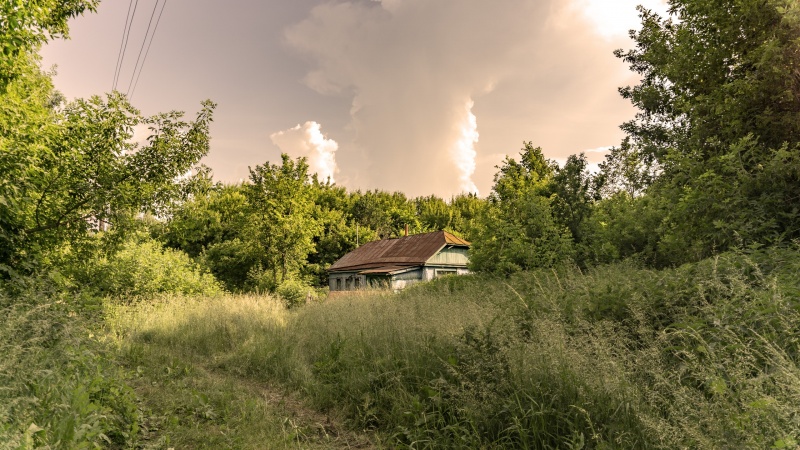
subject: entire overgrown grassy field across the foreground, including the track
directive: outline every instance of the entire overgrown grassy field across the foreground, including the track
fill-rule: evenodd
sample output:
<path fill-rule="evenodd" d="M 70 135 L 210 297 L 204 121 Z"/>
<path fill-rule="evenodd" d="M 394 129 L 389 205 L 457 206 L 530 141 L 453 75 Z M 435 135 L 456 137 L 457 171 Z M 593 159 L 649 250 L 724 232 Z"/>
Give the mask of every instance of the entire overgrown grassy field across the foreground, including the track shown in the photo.
<path fill-rule="evenodd" d="M 0 448 L 800 440 L 796 250 L 443 278 L 292 310 L 26 289 L 0 297 Z"/>

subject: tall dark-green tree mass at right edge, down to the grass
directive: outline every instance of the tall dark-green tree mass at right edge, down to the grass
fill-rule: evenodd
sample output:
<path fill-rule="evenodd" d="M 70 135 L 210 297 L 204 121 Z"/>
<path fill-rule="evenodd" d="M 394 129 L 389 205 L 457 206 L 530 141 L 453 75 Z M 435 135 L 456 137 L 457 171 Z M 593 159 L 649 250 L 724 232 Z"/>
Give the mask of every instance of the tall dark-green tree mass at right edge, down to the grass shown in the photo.
<path fill-rule="evenodd" d="M 667 19 L 640 9 L 636 48 L 616 52 L 642 77 L 620 90 L 639 108 L 622 127 L 671 204 L 661 259 L 800 237 L 800 4 L 669 3 Z"/>

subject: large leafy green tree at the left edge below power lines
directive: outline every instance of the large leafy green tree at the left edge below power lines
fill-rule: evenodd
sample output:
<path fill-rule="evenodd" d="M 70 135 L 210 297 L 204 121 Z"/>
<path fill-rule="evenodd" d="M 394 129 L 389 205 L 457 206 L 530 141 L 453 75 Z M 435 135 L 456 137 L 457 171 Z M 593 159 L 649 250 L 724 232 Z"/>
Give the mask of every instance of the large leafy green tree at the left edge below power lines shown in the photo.
<path fill-rule="evenodd" d="M 37 51 L 95 5 L 0 4 L 0 272 L 169 203 L 175 179 L 208 152 L 211 102 L 192 122 L 178 112 L 144 117 L 117 93 L 63 103 Z M 137 125 L 150 129 L 142 144 L 133 140 Z"/>

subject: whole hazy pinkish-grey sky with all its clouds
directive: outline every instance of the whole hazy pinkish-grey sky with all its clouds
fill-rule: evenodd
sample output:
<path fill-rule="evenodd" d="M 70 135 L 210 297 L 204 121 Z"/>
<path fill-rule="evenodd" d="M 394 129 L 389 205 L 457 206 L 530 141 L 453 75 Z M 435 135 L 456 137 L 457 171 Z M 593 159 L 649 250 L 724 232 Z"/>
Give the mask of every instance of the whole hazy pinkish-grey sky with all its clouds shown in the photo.
<path fill-rule="evenodd" d="M 42 66 L 68 99 L 116 78 L 146 115 L 191 118 L 216 102 L 203 163 L 219 181 L 288 153 L 351 190 L 486 196 L 525 141 L 594 164 L 619 144 L 635 110 L 617 88 L 637 78 L 612 52 L 633 47 L 637 4 L 666 11 L 663 0 L 105 0 L 43 48 Z"/>

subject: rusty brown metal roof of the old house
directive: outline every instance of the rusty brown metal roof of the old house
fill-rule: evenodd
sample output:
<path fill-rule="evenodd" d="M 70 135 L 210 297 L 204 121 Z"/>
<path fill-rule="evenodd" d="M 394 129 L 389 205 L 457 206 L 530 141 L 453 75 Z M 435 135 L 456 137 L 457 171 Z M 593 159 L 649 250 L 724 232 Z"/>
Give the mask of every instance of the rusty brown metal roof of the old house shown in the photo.
<path fill-rule="evenodd" d="M 446 245 L 469 247 L 470 243 L 446 231 L 373 241 L 342 256 L 328 270 L 344 272 L 387 266 L 397 270 L 421 266 Z"/>

